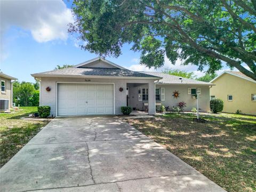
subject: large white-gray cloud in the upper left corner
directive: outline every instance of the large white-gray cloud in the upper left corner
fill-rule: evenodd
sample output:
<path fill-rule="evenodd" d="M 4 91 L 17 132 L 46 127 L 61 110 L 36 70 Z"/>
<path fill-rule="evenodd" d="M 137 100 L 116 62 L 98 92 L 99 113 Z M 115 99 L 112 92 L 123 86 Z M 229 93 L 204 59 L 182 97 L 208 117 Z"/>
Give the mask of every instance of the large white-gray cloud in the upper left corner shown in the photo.
<path fill-rule="evenodd" d="M 68 38 L 68 23 L 73 22 L 71 10 L 62 1 L 0 1 L 1 36 L 11 27 L 29 30 L 41 43 Z"/>

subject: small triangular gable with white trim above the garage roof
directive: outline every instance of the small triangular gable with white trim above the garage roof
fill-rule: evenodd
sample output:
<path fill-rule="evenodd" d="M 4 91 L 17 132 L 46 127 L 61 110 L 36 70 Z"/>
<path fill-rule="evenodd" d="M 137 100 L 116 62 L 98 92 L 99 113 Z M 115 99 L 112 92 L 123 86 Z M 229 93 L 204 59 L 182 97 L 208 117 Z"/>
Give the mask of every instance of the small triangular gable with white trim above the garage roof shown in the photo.
<path fill-rule="evenodd" d="M 74 68 L 83 68 L 83 67 L 90 67 L 90 68 L 111 68 L 111 69 L 125 69 L 115 63 L 108 61 L 106 59 L 101 59 L 100 57 L 91 59 L 89 61 L 80 63 Z"/>

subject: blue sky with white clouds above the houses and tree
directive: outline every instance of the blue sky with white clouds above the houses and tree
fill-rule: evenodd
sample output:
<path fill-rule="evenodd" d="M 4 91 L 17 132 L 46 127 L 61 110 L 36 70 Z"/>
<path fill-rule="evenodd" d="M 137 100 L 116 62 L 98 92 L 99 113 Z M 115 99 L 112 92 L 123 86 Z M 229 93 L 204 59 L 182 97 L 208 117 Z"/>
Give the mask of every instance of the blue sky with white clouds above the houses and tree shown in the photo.
<path fill-rule="evenodd" d="M 53 70 L 57 65 L 76 65 L 97 57 L 81 50 L 77 39 L 67 33 L 73 21 L 70 2 L 62 1 L 0 1 L 1 2 L 1 63 L 3 73 L 19 81 L 34 82 L 30 74 Z M 81 43 L 81 42 L 80 42 Z M 123 67 L 138 71 L 162 71 L 164 68 L 203 73 L 193 65 L 171 65 L 166 58 L 164 67 L 148 69 L 139 65 L 139 52 L 126 44 L 118 58 L 106 58 Z"/>

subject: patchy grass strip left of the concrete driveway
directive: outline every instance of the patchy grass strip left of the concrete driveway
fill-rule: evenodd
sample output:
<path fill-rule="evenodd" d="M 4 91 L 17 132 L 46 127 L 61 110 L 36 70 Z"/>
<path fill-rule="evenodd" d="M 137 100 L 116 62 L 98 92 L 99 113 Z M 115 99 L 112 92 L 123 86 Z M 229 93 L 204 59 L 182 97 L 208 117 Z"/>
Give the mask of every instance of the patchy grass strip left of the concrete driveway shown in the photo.
<path fill-rule="evenodd" d="M 10 114 L 0 113 L 0 167 L 9 161 L 49 121 L 23 120 L 37 107 L 20 107 Z"/>

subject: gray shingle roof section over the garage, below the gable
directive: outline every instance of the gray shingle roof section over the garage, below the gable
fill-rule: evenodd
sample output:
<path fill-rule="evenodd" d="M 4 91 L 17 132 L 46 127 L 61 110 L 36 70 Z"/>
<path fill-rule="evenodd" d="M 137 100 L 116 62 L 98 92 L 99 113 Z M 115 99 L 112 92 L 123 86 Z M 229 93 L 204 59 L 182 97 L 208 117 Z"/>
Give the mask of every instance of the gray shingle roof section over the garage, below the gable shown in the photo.
<path fill-rule="evenodd" d="M 32 76 L 114 76 L 114 77 L 155 77 L 157 76 L 131 71 L 129 69 L 117 68 L 93 68 L 93 67 L 70 67 L 59 70 L 46 71 L 43 73 L 32 74 Z"/>

